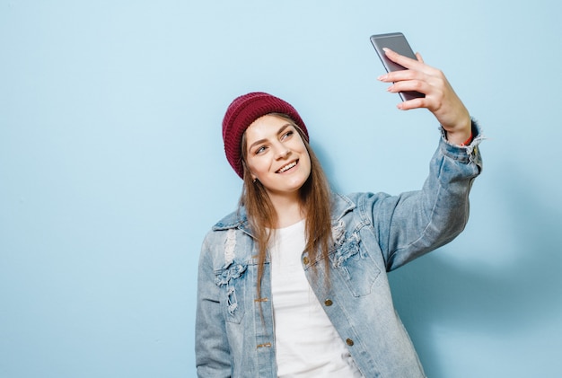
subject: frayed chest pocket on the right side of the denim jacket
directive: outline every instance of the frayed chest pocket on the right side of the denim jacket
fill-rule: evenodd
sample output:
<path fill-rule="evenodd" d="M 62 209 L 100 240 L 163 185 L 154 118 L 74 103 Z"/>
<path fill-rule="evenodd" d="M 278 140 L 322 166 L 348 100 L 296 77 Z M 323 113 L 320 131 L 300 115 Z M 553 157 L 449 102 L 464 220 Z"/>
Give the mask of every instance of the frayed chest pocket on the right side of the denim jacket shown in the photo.
<path fill-rule="evenodd" d="M 381 274 L 376 262 L 365 250 L 358 233 L 344 233 L 336 243 L 336 251 L 330 256 L 334 271 L 346 283 L 354 296 L 371 294 L 377 277 Z"/>

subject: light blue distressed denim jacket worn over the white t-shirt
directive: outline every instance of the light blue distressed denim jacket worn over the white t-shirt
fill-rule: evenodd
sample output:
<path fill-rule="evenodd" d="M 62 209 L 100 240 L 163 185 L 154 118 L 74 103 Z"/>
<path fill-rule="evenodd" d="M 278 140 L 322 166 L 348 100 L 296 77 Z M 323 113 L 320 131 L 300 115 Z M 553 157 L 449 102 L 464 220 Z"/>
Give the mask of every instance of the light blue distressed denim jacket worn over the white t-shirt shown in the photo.
<path fill-rule="evenodd" d="M 442 137 L 422 190 L 399 196 L 333 195 L 329 288 L 321 258 L 312 261 L 303 252 L 312 289 L 365 377 L 425 377 L 394 310 L 386 272 L 461 233 L 469 217 L 470 187 L 481 170 L 481 136 L 474 123 L 473 133 L 466 147 Z M 277 377 L 269 259 L 257 298 L 256 255 L 243 208 L 206 235 L 198 268 L 199 377 Z"/>

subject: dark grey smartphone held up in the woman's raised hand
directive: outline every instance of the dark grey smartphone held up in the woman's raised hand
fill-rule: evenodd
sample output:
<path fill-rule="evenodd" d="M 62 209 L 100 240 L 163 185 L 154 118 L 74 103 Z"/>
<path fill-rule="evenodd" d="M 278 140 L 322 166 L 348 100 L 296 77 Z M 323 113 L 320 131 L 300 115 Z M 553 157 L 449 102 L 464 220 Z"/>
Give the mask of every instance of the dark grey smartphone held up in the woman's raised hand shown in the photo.
<path fill-rule="evenodd" d="M 395 51 L 400 55 L 417 59 L 416 54 L 414 54 L 412 48 L 409 47 L 408 40 L 406 40 L 404 34 L 400 32 L 372 35 L 371 43 L 373 43 L 373 48 L 381 58 L 382 65 L 386 69 L 386 72 L 400 71 L 408 68 L 392 62 L 391 59 L 386 57 L 382 48 L 390 48 L 392 51 Z M 399 94 L 402 101 L 415 99 L 417 97 L 426 97 L 424 93 L 414 91 L 399 92 Z"/>

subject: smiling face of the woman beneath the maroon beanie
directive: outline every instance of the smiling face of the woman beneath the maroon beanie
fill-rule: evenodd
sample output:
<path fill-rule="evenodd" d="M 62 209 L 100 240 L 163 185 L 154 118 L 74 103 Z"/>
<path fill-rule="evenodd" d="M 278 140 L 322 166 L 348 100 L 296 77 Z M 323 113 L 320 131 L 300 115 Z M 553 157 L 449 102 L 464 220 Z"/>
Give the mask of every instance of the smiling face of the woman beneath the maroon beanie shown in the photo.
<path fill-rule="evenodd" d="M 246 163 L 269 197 L 297 195 L 311 174 L 303 138 L 287 120 L 273 115 L 256 119 L 246 129 Z"/>

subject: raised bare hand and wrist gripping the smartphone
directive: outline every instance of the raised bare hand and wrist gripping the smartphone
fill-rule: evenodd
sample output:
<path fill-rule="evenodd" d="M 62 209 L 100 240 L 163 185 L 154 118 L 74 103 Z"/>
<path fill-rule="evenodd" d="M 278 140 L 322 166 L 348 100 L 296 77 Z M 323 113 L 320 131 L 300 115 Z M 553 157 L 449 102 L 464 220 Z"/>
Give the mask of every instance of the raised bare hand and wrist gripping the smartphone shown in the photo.
<path fill-rule="evenodd" d="M 404 57 L 390 48 L 384 49 L 386 56 L 407 70 L 394 71 L 378 77 L 383 83 L 393 83 L 388 92 L 417 91 L 425 98 L 401 102 L 400 110 L 426 108 L 431 111 L 447 132 L 447 140 L 461 145 L 470 138 L 470 114 L 461 99 L 452 90 L 451 84 L 440 70 L 427 66 L 419 53 L 417 60 Z"/>

